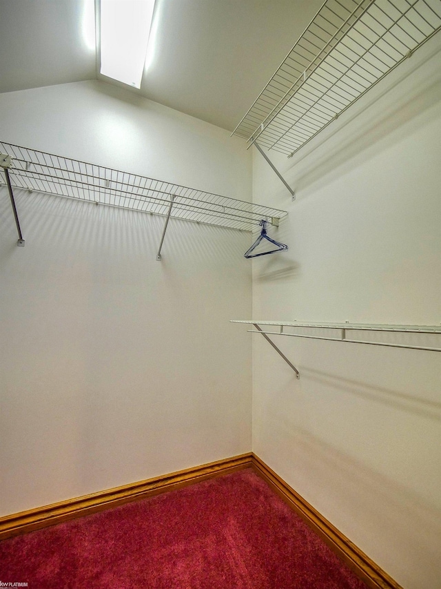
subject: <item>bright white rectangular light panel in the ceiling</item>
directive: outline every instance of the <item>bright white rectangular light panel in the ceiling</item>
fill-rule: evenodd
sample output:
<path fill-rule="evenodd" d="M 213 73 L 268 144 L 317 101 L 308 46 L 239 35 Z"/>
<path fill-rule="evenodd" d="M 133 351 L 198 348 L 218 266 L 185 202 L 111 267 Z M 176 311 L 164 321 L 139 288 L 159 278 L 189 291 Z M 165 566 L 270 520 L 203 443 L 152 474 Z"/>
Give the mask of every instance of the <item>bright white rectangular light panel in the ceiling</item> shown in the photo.
<path fill-rule="evenodd" d="M 154 0 L 101 0 L 101 74 L 141 88 Z"/>

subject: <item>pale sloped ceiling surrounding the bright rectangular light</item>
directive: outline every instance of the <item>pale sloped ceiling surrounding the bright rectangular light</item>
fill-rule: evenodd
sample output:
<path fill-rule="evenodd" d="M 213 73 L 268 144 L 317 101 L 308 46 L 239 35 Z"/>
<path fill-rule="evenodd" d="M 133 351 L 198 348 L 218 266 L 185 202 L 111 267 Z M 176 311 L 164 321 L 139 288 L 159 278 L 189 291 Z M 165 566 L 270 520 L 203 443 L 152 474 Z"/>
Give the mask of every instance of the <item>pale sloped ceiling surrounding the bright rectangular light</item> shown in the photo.
<path fill-rule="evenodd" d="M 232 131 L 322 0 L 156 0 L 141 93 Z M 101 79 L 94 0 L 0 0 L 0 92 Z"/>

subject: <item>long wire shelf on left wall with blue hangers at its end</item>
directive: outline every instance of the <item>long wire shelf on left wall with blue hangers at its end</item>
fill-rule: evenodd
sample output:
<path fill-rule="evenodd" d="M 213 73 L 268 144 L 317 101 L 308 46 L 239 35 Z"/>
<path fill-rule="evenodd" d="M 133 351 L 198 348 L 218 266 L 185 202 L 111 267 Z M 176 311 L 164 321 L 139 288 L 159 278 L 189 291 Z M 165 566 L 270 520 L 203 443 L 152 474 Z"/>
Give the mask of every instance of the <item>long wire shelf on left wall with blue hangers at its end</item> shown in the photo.
<path fill-rule="evenodd" d="M 88 164 L 69 157 L 0 142 L 0 151 L 12 157 L 9 168 L 12 186 L 167 215 L 173 198 L 173 218 L 207 223 L 240 231 L 257 229 L 260 220 L 269 223 L 287 215 L 286 211 L 200 191 L 171 182 L 154 180 L 128 172 Z"/>

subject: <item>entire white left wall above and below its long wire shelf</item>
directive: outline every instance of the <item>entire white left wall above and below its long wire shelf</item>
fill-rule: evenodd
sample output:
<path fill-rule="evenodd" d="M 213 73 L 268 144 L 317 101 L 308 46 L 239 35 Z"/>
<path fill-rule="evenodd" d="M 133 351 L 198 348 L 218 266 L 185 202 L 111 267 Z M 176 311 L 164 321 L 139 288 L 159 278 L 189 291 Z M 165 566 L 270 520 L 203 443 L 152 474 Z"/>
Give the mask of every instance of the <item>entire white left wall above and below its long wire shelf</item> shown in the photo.
<path fill-rule="evenodd" d="M 85 82 L 0 95 L 1 138 L 249 200 L 227 131 Z M 0 191 L 0 514 L 251 450 L 248 233 Z"/>

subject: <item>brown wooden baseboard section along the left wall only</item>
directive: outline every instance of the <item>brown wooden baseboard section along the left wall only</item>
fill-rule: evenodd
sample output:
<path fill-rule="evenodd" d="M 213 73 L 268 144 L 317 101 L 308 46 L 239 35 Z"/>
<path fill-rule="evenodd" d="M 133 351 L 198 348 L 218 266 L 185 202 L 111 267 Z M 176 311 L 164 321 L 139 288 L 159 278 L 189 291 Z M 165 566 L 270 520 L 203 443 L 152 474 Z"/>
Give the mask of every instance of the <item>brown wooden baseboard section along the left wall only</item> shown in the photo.
<path fill-rule="evenodd" d="M 224 460 L 187 468 L 171 474 L 156 476 L 154 479 L 147 479 L 146 481 L 139 481 L 138 483 L 123 485 L 122 487 L 4 516 L 0 518 L 0 540 L 114 508 L 123 505 L 123 503 L 130 503 L 130 501 L 147 499 L 147 497 L 176 490 L 207 479 L 214 479 L 216 476 L 249 468 L 251 465 L 252 454 L 241 454 L 240 456 L 225 458 Z"/>

